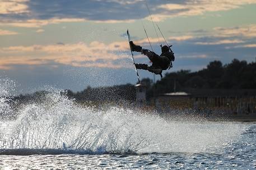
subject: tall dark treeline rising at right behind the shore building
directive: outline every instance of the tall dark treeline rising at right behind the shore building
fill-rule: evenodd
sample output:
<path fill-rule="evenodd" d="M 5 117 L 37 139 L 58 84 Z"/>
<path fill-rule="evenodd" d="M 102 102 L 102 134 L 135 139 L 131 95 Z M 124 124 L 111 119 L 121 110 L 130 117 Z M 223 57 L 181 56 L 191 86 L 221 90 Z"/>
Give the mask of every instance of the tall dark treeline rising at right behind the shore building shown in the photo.
<path fill-rule="evenodd" d="M 150 79 L 142 82 L 148 86 L 147 98 L 174 89 L 256 89 L 256 63 L 234 59 L 230 64 L 222 65 L 221 61 L 212 61 L 203 70 L 170 72 L 156 84 Z"/>

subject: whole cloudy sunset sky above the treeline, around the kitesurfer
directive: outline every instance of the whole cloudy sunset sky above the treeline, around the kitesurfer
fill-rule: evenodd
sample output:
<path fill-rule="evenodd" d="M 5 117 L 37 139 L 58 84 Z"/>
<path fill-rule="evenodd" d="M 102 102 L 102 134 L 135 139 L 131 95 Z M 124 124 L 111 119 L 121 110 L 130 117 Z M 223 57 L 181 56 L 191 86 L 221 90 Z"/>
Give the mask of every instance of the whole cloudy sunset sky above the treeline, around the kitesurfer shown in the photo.
<path fill-rule="evenodd" d="M 175 53 L 173 69 L 197 71 L 214 60 L 256 60 L 256 0 L 147 0 Z M 15 94 L 46 87 L 136 84 L 126 31 L 134 43 L 160 53 L 145 0 L 0 0 L 0 79 Z M 159 40 L 158 40 L 159 39 Z M 136 54 L 138 63 L 150 65 Z M 139 70 L 141 77 L 153 75 Z M 159 80 L 160 76 L 156 76 Z"/>

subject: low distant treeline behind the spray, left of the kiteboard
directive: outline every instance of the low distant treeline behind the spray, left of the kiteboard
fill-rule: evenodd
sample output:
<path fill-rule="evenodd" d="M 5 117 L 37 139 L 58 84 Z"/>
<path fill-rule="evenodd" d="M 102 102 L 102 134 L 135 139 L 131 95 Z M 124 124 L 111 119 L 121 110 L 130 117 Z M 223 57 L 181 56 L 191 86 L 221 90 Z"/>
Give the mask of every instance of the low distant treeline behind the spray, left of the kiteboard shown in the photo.
<path fill-rule="evenodd" d="M 53 93 L 54 95 L 56 92 Z M 51 95 L 49 91 L 36 91 L 33 94 L 19 95 L 12 99 L 16 101 L 18 105 L 27 103 L 43 103 L 48 95 Z M 134 101 L 135 98 L 135 87 L 132 84 L 116 85 L 101 88 L 91 88 L 88 86 L 85 90 L 74 93 L 71 90 L 61 91 L 60 94 L 68 96 L 69 99 L 75 99 L 78 103 L 85 101 L 92 102 L 93 104 L 118 103 L 122 104 L 123 101 Z"/>

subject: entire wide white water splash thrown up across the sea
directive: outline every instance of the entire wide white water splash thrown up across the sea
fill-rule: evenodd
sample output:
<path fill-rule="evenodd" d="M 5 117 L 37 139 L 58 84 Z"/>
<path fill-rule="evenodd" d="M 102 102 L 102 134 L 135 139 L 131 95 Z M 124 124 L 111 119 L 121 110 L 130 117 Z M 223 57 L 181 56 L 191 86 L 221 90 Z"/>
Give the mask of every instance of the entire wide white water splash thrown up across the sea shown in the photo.
<path fill-rule="evenodd" d="M 245 130 L 236 123 L 168 121 L 116 107 L 96 110 L 78 105 L 54 89 L 39 101 L 22 106 L 16 120 L 0 122 L 2 152 L 215 153 Z"/>

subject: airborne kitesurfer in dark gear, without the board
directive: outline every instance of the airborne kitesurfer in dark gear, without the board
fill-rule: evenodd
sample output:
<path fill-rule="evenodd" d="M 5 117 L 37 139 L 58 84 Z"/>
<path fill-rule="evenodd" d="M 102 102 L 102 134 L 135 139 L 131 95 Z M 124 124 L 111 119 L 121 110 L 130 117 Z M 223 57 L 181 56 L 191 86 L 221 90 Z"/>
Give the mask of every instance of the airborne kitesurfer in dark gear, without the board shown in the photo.
<path fill-rule="evenodd" d="M 153 51 L 135 45 L 133 41 L 130 41 L 129 43 L 132 51 L 141 52 L 141 54 L 146 55 L 152 62 L 151 66 L 148 66 L 147 64 L 134 64 L 137 69 L 148 70 L 161 75 L 162 70 L 167 70 L 171 65 L 171 61 L 174 61 L 175 59 L 173 51 L 166 45 L 161 47 L 162 53 L 159 56 Z"/>

